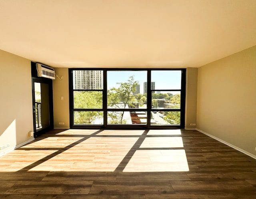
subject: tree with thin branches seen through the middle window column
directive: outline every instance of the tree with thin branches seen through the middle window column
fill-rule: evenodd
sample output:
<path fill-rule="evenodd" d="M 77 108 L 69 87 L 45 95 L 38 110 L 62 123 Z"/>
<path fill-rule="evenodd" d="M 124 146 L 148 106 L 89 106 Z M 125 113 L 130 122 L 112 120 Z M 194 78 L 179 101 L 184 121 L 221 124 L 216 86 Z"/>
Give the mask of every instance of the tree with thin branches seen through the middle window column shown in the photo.
<path fill-rule="evenodd" d="M 136 101 L 133 93 L 136 91 L 138 81 L 134 80 L 134 76 L 130 76 L 127 82 L 118 82 L 117 84 L 119 85 L 118 88 L 110 88 L 110 90 L 108 90 L 108 107 L 126 108 L 128 104 L 132 104 L 132 102 Z M 116 112 L 108 112 L 108 116 L 112 120 L 109 121 L 109 123 L 126 123 L 126 121 L 123 120 L 124 111 L 119 111 L 118 114 Z"/>

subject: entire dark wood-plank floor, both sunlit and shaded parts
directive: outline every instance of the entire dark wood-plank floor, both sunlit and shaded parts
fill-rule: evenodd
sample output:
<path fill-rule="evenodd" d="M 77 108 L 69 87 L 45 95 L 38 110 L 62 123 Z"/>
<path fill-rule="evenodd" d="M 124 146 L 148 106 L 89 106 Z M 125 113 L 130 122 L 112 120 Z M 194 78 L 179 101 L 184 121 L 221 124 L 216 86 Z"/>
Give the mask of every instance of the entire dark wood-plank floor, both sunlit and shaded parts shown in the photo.
<path fill-rule="evenodd" d="M 256 160 L 195 130 L 52 130 L 0 157 L 0 198 L 256 198 Z"/>

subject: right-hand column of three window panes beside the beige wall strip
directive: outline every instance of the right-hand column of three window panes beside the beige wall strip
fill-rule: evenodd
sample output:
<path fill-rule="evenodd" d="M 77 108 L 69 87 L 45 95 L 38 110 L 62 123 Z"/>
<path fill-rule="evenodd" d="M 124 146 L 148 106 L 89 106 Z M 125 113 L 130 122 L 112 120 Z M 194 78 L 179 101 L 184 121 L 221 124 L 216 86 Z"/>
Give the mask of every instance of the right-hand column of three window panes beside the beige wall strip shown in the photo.
<path fill-rule="evenodd" d="M 180 125 L 181 70 L 151 71 L 152 125 Z"/>

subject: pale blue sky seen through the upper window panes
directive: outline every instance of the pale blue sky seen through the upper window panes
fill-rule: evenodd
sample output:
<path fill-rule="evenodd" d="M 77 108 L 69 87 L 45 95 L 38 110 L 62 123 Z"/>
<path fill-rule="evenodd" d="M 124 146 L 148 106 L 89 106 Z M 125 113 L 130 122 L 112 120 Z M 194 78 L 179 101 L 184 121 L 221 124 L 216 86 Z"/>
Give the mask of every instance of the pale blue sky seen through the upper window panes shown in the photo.
<path fill-rule="evenodd" d="M 147 82 L 147 71 L 108 71 L 108 89 L 117 87 L 117 82 L 127 82 L 130 76 L 140 84 L 140 93 L 143 94 L 144 82 Z M 179 70 L 152 70 L 151 82 L 155 82 L 155 89 L 180 89 L 181 71 Z"/>

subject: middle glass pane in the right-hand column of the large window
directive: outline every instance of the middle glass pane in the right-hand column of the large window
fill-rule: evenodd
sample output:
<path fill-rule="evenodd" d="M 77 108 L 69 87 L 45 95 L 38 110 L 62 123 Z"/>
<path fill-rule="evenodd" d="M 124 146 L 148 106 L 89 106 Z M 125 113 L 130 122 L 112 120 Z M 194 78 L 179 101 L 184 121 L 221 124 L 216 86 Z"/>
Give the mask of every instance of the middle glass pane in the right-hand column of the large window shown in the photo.
<path fill-rule="evenodd" d="M 152 93 L 152 108 L 180 109 L 180 92 Z"/>

